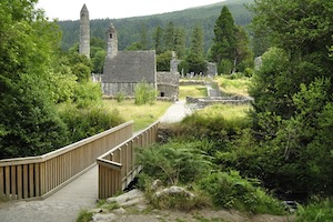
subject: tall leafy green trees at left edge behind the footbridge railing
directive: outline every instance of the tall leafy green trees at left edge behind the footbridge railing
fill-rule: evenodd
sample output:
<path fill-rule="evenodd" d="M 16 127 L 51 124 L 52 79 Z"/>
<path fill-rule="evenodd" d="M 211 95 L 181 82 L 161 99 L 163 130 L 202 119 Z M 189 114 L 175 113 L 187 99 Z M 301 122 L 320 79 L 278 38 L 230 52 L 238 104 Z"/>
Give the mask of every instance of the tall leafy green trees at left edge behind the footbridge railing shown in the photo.
<path fill-rule="evenodd" d="M 67 143 L 48 74 L 60 32 L 36 0 L 3 0 L 0 7 L 0 158 L 38 155 Z"/>

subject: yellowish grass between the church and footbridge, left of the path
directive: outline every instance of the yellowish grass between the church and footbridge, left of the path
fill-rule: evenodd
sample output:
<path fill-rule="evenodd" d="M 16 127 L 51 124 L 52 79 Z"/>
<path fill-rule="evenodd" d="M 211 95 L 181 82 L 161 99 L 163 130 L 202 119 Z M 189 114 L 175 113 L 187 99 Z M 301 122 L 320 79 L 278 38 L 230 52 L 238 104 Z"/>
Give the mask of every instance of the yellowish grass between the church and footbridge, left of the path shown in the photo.
<path fill-rule="evenodd" d="M 137 105 L 133 100 L 117 102 L 104 100 L 107 107 L 120 113 L 125 121 L 134 120 L 134 131 L 142 130 L 162 117 L 171 102 L 157 101 L 155 104 Z"/>

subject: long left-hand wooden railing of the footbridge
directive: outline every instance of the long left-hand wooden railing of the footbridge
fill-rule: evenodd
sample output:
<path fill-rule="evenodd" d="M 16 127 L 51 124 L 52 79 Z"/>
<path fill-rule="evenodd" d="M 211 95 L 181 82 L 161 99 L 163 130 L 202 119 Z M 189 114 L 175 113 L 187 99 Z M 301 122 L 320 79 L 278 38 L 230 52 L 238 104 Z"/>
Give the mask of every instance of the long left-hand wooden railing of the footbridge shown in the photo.
<path fill-rule="evenodd" d="M 44 155 L 0 160 L 0 200 L 47 198 L 133 135 L 133 121 Z"/>

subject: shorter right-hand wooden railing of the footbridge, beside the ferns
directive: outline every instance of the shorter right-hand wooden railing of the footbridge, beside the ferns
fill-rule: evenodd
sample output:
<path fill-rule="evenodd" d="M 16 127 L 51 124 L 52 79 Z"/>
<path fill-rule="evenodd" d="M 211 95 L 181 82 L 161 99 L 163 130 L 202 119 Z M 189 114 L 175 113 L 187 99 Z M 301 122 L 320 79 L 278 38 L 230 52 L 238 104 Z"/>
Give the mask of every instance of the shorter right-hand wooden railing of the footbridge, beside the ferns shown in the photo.
<path fill-rule="evenodd" d="M 99 199 L 107 199 L 123 191 L 133 181 L 141 170 L 135 163 L 134 149 L 145 148 L 157 141 L 158 124 L 159 122 L 151 124 L 97 159 Z"/>

